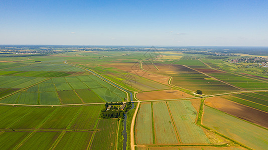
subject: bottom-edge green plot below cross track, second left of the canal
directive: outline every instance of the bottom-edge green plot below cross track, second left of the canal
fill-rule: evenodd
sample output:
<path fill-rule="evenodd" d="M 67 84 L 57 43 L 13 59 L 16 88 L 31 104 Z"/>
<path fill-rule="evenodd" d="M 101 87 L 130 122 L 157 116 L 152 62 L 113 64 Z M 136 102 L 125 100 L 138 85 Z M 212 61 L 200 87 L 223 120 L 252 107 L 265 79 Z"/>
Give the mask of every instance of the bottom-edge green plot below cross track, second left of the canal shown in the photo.
<path fill-rule="evenodd" d="M 66 132 L 55 149 L 87 149 L 93 132 Z"/>

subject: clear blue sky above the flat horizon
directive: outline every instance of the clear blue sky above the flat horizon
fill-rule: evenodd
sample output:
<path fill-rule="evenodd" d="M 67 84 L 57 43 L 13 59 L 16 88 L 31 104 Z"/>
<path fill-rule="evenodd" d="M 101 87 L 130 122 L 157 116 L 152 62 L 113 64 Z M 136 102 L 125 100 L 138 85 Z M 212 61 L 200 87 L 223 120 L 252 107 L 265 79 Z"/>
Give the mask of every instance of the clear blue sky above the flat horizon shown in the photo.
<path fill-rule="evenodd" d="M 268 46 L 268 0 L 0 0 L 0 44 Z"/>

